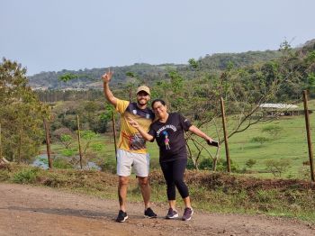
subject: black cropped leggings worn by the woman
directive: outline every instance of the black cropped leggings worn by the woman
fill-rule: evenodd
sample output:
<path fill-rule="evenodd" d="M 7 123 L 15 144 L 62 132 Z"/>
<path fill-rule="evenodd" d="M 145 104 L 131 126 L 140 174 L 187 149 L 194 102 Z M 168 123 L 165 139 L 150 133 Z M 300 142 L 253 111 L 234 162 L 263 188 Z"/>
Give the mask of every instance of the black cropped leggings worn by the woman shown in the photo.
<path fill-rule="evenodd" d="M 175 159 L 167 162 L 160 162 L 167 185 L 167 199 L 175 200 L 175 186 L 182 198 L 189 196 L 188 187 L 184 183 L 184 169 L 187 159 Z"/>

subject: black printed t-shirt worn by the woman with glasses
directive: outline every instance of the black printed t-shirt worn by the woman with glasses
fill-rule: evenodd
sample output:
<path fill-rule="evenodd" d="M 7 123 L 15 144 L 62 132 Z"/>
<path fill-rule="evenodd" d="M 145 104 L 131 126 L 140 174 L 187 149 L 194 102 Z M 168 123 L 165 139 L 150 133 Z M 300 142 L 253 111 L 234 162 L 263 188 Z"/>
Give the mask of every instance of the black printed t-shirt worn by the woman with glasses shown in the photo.
<path fill-rule="evenodd" d="M 187 158 L 184 131 L 190 126 L 192 124 L 180 113 L 169 113 L 166 123 L 151 123 L 148 133 L 157 140 L 160 162 Z"/>

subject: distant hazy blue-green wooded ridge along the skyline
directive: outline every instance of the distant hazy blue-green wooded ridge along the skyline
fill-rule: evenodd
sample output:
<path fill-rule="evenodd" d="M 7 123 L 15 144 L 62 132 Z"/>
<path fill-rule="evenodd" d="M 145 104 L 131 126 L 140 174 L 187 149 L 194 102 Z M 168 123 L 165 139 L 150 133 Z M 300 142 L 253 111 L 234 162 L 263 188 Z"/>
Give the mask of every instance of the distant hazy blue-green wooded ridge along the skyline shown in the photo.
<path fill-rule="evenodd" d="M 279 56 L 279 52 L 275 50 L 247 51 L 242 53 L 216 53 L 198 59 L 198 63 L 200 65 L 200 70 L 216 72 L 227 68 L 230 62 L 233 63 L 234 67 L 239 68 L 276 59 Z M 144 80 L 144 83 L 150 85 L 161 78 L 166 78 L 167 70 L 169 70 L 169 68 L 174 68 L 185 73 L 188 78 L 193 77 L 193 69 L 188 64 L 150 65 L 146 63 L 136 63 L 131 66 L 111 68 L 115 74 L 112 86 L 134 82 L 133 78 L 126 77 L 127 72 L 132 72 Z M 80 69 L 78 71 L 63 69 L 58 72 L 41 72 L 40 74 L 29 77 L 29 80 L 31 87 L 35 89 L 63 89 L 66 87 L 76 89 L 98 89 L 102 88 L 100 77 L 102 77 L 107 69 L 108 68 L 85 68 L 84 70 Z M 67 83 L 58 80 L 58 77 L 67 73 L 74 74 L 78 78 L 68 81 Z"/>

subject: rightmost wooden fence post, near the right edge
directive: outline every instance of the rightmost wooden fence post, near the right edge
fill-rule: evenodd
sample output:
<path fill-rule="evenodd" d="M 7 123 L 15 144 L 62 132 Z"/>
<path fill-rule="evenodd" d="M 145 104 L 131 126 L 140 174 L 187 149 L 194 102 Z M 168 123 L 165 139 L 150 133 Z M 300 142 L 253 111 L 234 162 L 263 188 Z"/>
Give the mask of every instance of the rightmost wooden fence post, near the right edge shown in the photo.
<path fill-rule="evenodd" d="M 312 150 L 312 147 L 311 147 L 311 126 L 310 126 L 310 114 L 309 114 L 307 90 L 303 90 L 303 104 L 304 104 L 304 114 L 305 114 L 307 142 L 308 142 L 308 147 L 309 147 L 309 158 L 310 158 L 310 167 L 311 167 L 311 180 L 314 182 L 315 181 L 315 177 L 314 177 L 314 163 L 313 163 L 313 150 Z"/>

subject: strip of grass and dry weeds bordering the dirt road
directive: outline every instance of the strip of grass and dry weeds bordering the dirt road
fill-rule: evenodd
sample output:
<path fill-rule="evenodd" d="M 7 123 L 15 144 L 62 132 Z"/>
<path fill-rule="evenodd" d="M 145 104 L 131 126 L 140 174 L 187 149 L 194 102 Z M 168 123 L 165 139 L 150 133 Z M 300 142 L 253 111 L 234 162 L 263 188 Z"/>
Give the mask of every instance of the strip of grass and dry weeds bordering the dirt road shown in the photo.
<path fill-rule="evenodd" d="M 43 170 L 25 165 L 3 165 L 0 181 L 67 189 L 75 193 L 117 200 L 117 177 L 94 170 Z M 193 207 L 211 213 L 266 214 L 315 222 L 315 186 L 308 181 L 262 179 L 186 171 Z M 166 184 L 162 173 L 150 174 L 151 201 L 166 206 Z M 129 202 L 142 202 L 135 177 L 130 178 Z M 179 206 L 184 207 L 177 193 Z"/>

